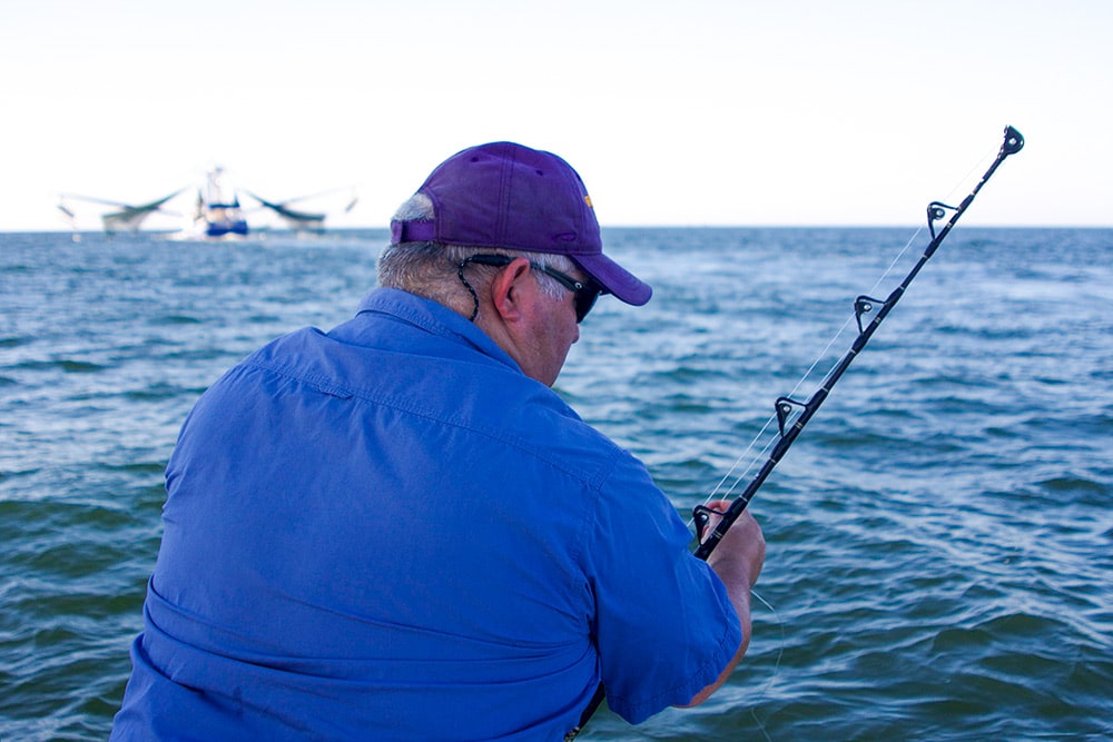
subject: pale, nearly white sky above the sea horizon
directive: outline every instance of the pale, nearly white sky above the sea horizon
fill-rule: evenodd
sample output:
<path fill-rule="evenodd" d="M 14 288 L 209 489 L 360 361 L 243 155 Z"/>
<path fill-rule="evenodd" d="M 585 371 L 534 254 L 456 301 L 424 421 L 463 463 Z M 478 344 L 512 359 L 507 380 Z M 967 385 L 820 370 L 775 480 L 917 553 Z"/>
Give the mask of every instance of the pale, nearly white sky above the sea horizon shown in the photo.
<path fill-rule="evenodd" d="M 510 139 L 604 226 L 918 226 L 1026 138 L 964 225 L 1113 226 L 1110 0 L 0 0 L 0 230 L 219 164 L 385 227 Z"/>

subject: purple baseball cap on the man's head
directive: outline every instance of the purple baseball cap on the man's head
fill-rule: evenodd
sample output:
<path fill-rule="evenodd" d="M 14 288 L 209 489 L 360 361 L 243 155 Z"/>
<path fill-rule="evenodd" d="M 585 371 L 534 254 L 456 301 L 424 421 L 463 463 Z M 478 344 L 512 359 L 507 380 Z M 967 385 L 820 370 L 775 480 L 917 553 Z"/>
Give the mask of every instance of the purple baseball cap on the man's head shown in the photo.
<path fill-rule="evenodd" d="M 417 189 L 432 220 L 392 221 L 391 243 L 444 243 L 567 255 L 627 304 L 653 289 L 603 255 L 599 222 L 583 180 L 552 152 L 509 141 L 456 152 Z"/>

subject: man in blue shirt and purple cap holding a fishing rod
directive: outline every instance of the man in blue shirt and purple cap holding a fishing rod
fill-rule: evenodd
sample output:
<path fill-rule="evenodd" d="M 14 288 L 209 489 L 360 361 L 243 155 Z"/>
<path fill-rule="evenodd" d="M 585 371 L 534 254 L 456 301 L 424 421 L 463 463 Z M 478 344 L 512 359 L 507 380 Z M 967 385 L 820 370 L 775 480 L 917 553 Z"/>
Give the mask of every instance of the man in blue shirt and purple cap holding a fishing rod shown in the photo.
<path fill-rule="evenodd" d="M 643 465 L 549 387 L 601 293 L 580 177 L 514 144 L 439 166 L 381 288 L 233 368 L 187 418 L 114 739 L 559 740 L 702 702 L 765 555 L 710 566 Z"/>

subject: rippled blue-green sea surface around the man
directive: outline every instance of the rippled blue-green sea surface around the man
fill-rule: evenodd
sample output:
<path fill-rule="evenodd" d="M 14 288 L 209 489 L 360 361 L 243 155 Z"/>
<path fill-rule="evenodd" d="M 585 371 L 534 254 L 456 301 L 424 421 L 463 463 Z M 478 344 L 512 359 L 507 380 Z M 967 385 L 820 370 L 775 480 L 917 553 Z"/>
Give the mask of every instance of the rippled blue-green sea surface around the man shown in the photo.
<path fill-rule="evenodd" d="M 186 413 L 260 344 L 351 316 L 385 239 L 0 235 L 0 739 L 107 738 Z M 604 239 L 654 296 L 601 299 L 556 388 L 687 518 L 738 494 L 775 399 L 808 398 L 855 297 L 928 236 Z M 580 739 L 1113 736 L 1111 266 L 1113 230 L 956 227 L 750 505 L 768 560 L 730 683 Z"/>

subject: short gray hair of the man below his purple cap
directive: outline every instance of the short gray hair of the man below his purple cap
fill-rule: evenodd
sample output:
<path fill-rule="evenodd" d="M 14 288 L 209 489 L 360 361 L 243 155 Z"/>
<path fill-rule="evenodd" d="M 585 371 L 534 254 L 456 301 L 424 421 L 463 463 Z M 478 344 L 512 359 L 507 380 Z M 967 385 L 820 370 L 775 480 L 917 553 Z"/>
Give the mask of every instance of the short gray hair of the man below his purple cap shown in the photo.
<path fill-rule="evenodd" d="M 429 221 L 434 214 L 433 201 L 424 194 L 415 194 L 394 212 L 392 221 Z M 378 258 L 378 285 L 388 288 L 400 288 L 417 296 L 433 299 L 446 307 L 461 310 L 464 301 L 471 304 L 471 297 L 461 284 L 456 271 L 465 259 L 473 255 L 505 255 L 511 258 L 525 258 L 530 263 L 545 268 L 552 268 L 564 274 L 575 270 L 575 264 L 564 255 L 550 253 L 530 253 L 495 247 L 464 247 L 462 245 L 445 245 L 443 243 L 402 243 L 390 245 Z M 470 271 L 475 271 L 484 283 L 493 276 L 498 268 L 471 264 Z M 556 279 L 544 273 L 534 271 L 541 290 L 553 298 L 560 298 L 567 288 Z M 471 313 L 467 306 L 466 316 Z"/>

